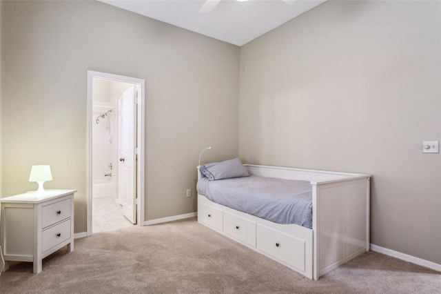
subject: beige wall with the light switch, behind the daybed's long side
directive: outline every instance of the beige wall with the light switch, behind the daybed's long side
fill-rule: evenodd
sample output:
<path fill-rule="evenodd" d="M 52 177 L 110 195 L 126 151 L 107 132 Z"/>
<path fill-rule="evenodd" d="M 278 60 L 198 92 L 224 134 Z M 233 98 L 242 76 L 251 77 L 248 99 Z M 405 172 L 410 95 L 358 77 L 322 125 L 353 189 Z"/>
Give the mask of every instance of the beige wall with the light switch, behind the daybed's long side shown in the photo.
<path fill-rule="evenodd" d="M 441 264 L 440 33 L 439 1 L 328 1 L 247 43 L 240 157 L 373 174 L 371 242 Z"/>

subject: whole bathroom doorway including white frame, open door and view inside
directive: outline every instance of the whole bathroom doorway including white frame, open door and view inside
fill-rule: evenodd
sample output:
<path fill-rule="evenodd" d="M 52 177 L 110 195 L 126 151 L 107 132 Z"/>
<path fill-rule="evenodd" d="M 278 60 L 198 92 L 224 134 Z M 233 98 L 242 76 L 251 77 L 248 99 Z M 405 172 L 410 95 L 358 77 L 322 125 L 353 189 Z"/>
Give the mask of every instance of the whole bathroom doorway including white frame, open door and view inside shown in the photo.
<path fill-rule="evenodd" d="M 88 235 L 144 224 L 144 80 L 88 71 Z"/>

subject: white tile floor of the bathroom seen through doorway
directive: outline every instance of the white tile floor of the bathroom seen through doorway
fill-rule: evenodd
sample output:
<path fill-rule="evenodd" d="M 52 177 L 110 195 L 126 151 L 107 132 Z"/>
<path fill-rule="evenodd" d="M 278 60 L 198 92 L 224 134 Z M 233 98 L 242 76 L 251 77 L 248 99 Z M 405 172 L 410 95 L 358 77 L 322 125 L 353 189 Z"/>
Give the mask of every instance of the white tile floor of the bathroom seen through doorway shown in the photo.
<path fill-rule="evenodd" d="M 92 200 L 92 233 L 112 231 L 133 224 L 124 217 L 123 206 L 112 197 Z"/>

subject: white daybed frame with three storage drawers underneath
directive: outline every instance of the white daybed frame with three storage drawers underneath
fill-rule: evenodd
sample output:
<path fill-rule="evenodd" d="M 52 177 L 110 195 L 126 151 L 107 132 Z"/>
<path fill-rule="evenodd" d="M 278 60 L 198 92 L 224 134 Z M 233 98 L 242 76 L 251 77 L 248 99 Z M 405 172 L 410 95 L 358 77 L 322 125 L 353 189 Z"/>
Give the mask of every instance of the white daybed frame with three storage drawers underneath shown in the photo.
<path fill-rule="evenodd" d="M 269 222 L 200 194 L 198 222 L 314 280 L 369 251 L 371 175 L 244 166 L 250 175 L 311 182 L 312 229 Z"/>

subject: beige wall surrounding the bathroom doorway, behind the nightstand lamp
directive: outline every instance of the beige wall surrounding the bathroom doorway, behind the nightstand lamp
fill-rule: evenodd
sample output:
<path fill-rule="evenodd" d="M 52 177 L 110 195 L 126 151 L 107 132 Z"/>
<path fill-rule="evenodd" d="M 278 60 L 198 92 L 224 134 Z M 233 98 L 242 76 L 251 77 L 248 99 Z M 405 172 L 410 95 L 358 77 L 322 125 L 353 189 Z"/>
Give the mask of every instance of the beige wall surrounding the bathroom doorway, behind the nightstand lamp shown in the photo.
<path fill-rule="evenodd" d="M 87 71 L 145 79 L 145 219 L 196 211 L 199 153 L 238 155 L 239 49 L 97 1 L 3 3 L 1 197 L 74 188 L 86 231 Z"/>

